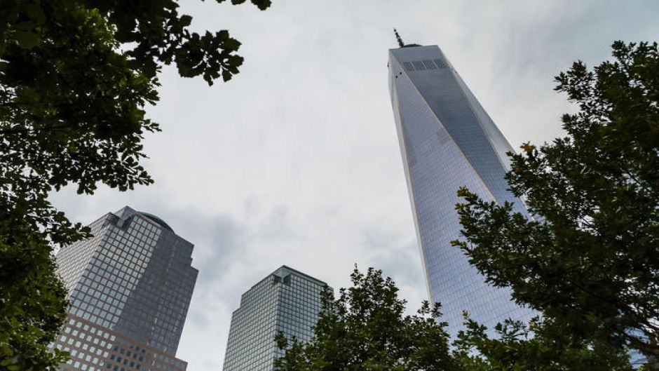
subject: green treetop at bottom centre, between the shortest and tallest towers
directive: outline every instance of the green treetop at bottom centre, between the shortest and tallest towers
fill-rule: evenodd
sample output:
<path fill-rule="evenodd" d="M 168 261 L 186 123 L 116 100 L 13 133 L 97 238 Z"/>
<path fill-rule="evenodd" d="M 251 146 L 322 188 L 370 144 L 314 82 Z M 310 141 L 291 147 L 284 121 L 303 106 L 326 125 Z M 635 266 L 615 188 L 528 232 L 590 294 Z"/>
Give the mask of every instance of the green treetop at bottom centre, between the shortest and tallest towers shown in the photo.
<path fill-rule="evenodd" d="M 449 356 L 446 323 L 437 322 L 439 306 L 424 302 L 418 313 L 405 315 L 405 300 L 382 271 L 355 268 L 353 287 L 322 292 L 315 336 L 308 344 L 278 334 L 285 356 L 276 369 L 285 371 L 458 370 Z"/>

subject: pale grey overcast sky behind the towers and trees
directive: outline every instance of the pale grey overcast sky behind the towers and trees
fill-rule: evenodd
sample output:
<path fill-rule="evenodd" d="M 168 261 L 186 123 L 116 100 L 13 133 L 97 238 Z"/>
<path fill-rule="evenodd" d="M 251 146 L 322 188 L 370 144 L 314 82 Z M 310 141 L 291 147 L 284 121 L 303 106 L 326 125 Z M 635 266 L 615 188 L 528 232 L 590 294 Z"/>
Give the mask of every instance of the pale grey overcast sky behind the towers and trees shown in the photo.
<path fill-rule="evenodd" d="M 227 1 L 228 3 L 228 1 Z M 144 166 L 156 180 L 93 196 L 53 194 L 88 224 L 124 205 L 195 245 L 196 288 L 177 357 L 222 370 L 240 295 L 282 264 L 348 285 L 355 264 L 391 276 L 414 310 L 421 257 L 387 86 L 393 27 L 439 45 L 513 147 L 561 136 L 572 112 L 553 78 L 610 58 L 612 41 L 656 40 L 659 1 L 182 1 L 198 31 L 229 29 L 245 63 L 212 87 L 165 67 L 147 107 Z"/>

